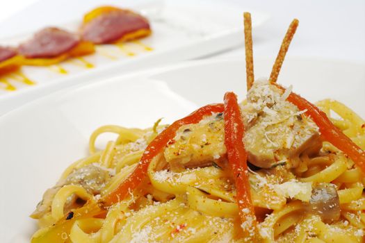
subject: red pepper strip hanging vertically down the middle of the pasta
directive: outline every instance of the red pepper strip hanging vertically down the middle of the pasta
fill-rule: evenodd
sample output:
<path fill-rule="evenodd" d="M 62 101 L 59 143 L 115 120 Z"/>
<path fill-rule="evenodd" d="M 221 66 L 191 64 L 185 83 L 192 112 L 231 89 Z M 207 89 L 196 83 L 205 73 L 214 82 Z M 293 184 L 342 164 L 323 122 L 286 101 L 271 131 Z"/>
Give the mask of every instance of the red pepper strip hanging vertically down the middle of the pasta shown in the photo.
<path fill-rule="evenodd" d="M 249 242 L 254 242 L 257 237 L 257 220 L 250 194 L 247 153 L 243 144 L 244 134 L 245 128 L 236 94 L 227 92 L 225 94 L 225 146 L 228 162 L 236 180 L 236 201 L 241 217 L 243 237 Z"/>

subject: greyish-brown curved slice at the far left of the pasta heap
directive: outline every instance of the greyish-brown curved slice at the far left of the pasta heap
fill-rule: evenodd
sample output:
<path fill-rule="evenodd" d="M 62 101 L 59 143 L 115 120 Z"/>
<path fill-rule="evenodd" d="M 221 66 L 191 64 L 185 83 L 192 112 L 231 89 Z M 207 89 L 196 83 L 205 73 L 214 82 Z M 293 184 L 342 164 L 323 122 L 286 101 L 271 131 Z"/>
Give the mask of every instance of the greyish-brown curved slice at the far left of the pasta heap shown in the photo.
<path fill-rule="evenodd" d="M 38 203 L 37 208 L 32 213 L 31 217 L 33 217 L 33 219 L 39 219 L 47 212 L 50 212 L 54 196 L 64 185 L 81 185 L 88 193 L 97 195 L 100 194 L 110 178 L 111 175 L 109 172 L 99 166 L 86 165 L 85 167 L 76 169 L 69 176 L 67 176 L 67 178 L 58 181 L 54 187 L 51 187 L 46 192 L 44 192 L 42 201 Z M 76 201 L 76 198 L 70 199 L 69 204 L 73 203 L 74 201 Z"/>

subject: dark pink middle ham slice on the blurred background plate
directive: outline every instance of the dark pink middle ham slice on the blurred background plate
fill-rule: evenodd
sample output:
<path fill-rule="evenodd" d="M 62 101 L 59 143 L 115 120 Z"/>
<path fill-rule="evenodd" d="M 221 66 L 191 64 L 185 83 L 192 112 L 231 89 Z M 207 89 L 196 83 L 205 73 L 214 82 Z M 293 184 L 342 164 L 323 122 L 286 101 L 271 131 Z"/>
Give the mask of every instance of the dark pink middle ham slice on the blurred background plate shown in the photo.
<path fill-rule="evenodd" d="M 79 44 L 79 37 L 59 28 L 44 28 L 33 38 L 19 46 L 19 53 L 26 58 L 54 58 Z"/>

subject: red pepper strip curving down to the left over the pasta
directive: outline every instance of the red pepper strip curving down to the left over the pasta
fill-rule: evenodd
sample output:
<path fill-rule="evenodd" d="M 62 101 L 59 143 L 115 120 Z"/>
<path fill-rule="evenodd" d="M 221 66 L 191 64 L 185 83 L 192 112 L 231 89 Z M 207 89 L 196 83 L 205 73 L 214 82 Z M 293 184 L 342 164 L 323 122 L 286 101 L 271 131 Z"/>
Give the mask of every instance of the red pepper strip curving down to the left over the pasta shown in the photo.
<path fill-rule="evenodd" d="M 211 115 L 212 112 L 223 112 L 224 107 L 222 103 L 203 106 L 195 110 L 187 117 L 175 121 L 168 126 L 164 131 L 157 135 L 152 142 L 150 142 L 143 153 L 140 162 L 133 173 L 125 179 L 118 187 L 110 194 L 106 194 L 103 200 L 105 206 L 110 206 L 113 203 L 123 200 L 130 192 L 133 192 L 142 182 L 143 178 L 147 176 L 147 168 L 152 159 L 157 156 L 170 140 L 175 137 L 177 130 L 185 124 L 196 124 L 202 120 L 205 115 Z"/>

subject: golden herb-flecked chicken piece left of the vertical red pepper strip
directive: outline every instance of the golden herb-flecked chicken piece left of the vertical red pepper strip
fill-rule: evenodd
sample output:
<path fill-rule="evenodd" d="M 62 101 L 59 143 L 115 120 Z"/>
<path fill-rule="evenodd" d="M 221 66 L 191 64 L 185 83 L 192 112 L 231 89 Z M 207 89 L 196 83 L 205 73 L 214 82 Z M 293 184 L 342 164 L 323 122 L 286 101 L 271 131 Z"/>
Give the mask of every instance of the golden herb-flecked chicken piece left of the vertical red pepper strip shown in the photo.
<path fill-rule="evenodd" d="M 198 124 L 181 126 L 165 149 L 165 160 L 175 170 L 222 160 L 226 153 L 224 130 L 222 113 L 206 117 Z"/>

